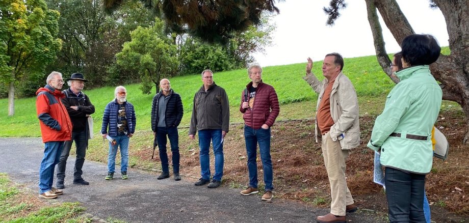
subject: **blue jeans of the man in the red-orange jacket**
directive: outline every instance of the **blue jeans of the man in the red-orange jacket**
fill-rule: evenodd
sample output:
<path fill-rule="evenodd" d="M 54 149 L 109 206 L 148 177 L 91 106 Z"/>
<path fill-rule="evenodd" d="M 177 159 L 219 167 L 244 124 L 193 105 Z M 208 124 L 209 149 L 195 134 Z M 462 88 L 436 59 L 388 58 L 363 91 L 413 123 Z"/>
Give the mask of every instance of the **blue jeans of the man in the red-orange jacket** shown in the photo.
<path fill-rule="evenodd" d="M 54 169 L 59 163 L 60 155 L 64 149 L 64 141 L 47 142 L 44 144 L 44 157 L 39 168 L 39 193 L 52 188 L 54 182 Z"/>

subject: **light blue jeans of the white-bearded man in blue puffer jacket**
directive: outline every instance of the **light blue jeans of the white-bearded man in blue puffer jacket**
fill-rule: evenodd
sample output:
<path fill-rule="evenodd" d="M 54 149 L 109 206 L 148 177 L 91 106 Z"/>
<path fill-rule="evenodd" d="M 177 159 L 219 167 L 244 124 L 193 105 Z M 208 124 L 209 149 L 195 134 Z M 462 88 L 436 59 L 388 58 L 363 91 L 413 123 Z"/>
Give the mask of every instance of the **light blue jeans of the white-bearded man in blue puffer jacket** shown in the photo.
<path fill-rule="evenodd" d="M 109 143 L 108 172 L 114 173 L 116 167 L 117 147 L 120 148 L 120 172 L 127 171 L 128 141 L 130 140 L 130 138 L 127 135 L 116 135 L 111 137 L 116 140 L 116 145 L 112 146 L 111 143 Z"/>

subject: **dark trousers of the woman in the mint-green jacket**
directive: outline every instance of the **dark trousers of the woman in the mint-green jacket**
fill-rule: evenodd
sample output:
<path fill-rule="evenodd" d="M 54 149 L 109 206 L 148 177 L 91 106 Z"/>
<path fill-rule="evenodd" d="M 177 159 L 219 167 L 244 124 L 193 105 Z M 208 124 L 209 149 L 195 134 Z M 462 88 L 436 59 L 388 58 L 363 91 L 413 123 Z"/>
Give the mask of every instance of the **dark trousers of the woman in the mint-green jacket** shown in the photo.
<path fill-rule="evenodd" d="M 389 221 L 425 223 L 425 175 L 386 168 L 384 181 Z"/>

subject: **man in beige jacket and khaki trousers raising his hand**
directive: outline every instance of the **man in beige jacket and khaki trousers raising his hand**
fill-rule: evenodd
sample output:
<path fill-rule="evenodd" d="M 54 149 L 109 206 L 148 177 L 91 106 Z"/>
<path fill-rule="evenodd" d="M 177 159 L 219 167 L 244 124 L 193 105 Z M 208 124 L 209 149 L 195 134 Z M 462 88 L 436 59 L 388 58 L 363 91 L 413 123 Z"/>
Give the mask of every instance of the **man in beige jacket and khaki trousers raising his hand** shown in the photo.
<path fill-rule="evenodd" d="M 324 58 L 319 81 L 311 73 L 312 60 L 308 58 L 304 80 L 319 93 L 316 105 L 315 137 L 321 135 L 321 148 L 331 189 L 331 210 L 318 216 L 320 223 L 346 222 L 345 214 L 356 211 L 352 194 L 347 187 L 345 161 L 349 149 L 360 142 L 358 123 L 358 99 L 350 79 L 342 73 L 344 59 L 341 54 L 329 53 Z"/>

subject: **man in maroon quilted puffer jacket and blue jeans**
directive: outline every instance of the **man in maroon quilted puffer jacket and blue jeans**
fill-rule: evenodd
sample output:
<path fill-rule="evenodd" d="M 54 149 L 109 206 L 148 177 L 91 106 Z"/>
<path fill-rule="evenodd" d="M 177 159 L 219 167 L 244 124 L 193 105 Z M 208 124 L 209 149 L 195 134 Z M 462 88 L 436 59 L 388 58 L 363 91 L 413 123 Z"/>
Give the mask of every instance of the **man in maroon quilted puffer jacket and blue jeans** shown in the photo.
<path fill-rule="evenodd" d="M 275 89 L 262 82 L 262 68 L 251 65 L 248 68 L 249 78 L 252 80 L 241 95 L 240 111 L 244 119 L 244 139 L 248 157 L 249 186 L 241 194 L 249 195 L 259 192 L 257 189 L 257 143 L 259 144 L 260 159 L 264 170 L 266 193 L 263 201 L 273 198 L 272 159 L 270 157 L 270 127 L 280 112 Z"/>

